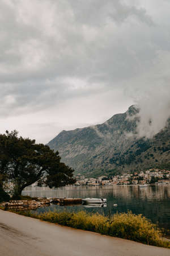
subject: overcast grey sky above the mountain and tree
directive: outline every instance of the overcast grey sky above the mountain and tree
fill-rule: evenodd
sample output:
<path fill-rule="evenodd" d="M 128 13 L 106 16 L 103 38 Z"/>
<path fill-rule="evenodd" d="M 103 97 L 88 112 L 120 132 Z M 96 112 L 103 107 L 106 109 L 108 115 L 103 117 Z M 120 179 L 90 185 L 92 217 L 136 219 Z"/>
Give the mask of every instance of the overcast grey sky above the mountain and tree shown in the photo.
<path fill-rule="evenodd" d="M 0 133 L 47 143 L 141 105 L 170 113 L 169 0 L 0 0 Z"/>

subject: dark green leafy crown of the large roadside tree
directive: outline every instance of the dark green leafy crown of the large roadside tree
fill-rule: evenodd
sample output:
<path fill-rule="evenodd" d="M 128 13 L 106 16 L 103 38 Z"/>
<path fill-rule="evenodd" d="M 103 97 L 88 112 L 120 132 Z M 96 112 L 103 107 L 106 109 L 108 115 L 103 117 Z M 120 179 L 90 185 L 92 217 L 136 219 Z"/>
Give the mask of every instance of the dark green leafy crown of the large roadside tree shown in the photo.
<path fill-rule="evenodd" d="M 18 137 L 16 130 L 0 134 L 0 174 L 13 184 L 14 195 L 36 181 L 50 188 L 73 184 L 73 171 L 49 146 Z"/>

